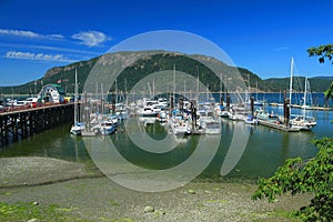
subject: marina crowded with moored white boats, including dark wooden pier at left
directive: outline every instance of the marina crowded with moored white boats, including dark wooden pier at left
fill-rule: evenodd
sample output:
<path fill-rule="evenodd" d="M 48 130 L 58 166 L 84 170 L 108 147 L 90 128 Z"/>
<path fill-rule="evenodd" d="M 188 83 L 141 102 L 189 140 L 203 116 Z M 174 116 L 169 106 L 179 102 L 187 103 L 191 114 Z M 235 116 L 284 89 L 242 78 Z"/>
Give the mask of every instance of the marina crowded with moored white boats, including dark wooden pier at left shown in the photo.
<path fill-rule="evenodd" d="M 10 142 L 28 138 L 42 130 L 73 120 L 73 125 L 70 130 L 73 134 L 82 134 L 84 137 L 94 137 L 97 134 L 105 133 L 111 134 L 115 132 L 118 121 L 121 122 L 130 117 L 139 117 L 139 120 L 141 119 L 139 122 L 142 122 L 144 125 L 152 124 L 155 121 L 160 122 L 167 129 L 170 129 L 170 132 L 173 132 L 175 135 L 220 134 L 221 130 L 219 129 L 221 129 L 221 118 L 226 118 L 231 121 L 241 121 L 245 124 L 261 124 L 262 127 L 273 128 L 285 132 L 311 130 L 311 128 L 315 127 L 315 122 L 309 129 L 302 129 L 300 127 L 291 128 L 285 124 L 283 122 L 283 107 L 274 104 L 271 105 L 272 102 L 270 102 L 276 98 L 276 94 L 278 93 L 259 93 L 260 99 L 268 99 L 266 105 L 253 105 L 251 108 L 251 105 L 248 104 L 244 108 L 240 108 L 239 104 L 233 103 L 229 103 L 229 107 L 221 107 L 220 103 L 206 102 L 200 103 L 200 108 L 196 109 L 196 107 L 193 107 L 191 102 L 184 101 L 183 104 L 174 103 L 174 110 L 172 112 L 169 107 L 170 101 L 162 98 L 159 100 L 150 99 L 147 101 L 138 99 L 135 103 L 132 102 L 128 105 L 124 103 L 115 104 L 103 101 L 101 102 L 101 100 L 87 99 L 84 102 L 84 100 L 79 101 L 74 99 L 73 102 L 64 104 L 38 105 L 36 108 L 28 107 L 26 109 L 20 108 L 19 110 L 7 112 L 2 111 L 2 113 L 0 113 L 1 144 L 3 147 Z M 215 99 L 212 99 L 211 101 L 220 100 L 219 97 L 221 94 L 213 93 L 213 95 Z M 80 97 L 84 98 L 84 95 Z M 314 97 L 319 98 L 319 95 Z M 92 101 L 92 103 L 89 104 L 89 109 L 85 109 L 84 105 L 88 105 L 88 100 Z M 321 107 L 322 109 L 320 110 L 300 108 L 301 105 L 292 105 L 290 124 L 292 124 L 293 121 L 296 122 L 297 118 L 305 117 L 304 114 L 313 115 L 315 113 L 329 113 L 330 109 L 332 109 L 330 107 Z M 193 114 L 193 109 L 198 110 L 195 114 Z M 103 111 L 103 113 L 100 113 L 100 111 Z M 251 112 L 253 114 L 251 114 Z M 272 121 L 273 119 L 270 118 L 271 113 L 275 113 L 278 120 Z M 84 114 L 85 117 L 90 117 L 89 124 L 83 121 Z M 105 127 L 108 124 L 109 130 L 105 131 Z"/>

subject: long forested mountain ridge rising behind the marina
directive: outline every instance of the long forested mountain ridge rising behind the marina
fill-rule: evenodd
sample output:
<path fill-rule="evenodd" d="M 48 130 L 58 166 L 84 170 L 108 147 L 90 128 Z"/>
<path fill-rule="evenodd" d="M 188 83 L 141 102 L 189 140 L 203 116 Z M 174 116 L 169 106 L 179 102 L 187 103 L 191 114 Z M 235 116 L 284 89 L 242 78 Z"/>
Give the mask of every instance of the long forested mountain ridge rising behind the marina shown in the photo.
<path fill-rule="evenodd" d="M 110 70 L 121 70 L 121 74 L 118 77 L 118 89 L 130 90 L 148 74 L 163 70 L 173 70 L 173 67 L 175 67 L 176 71 L 189 73 L 194 78 L 199 75 L 200 81 L 213 92 L 220 91 L 219 78 L 214 73 L 222 73 L 223 81 L 229 91 L 240 90 L 240 82 L 244 82 L 242 87 L 248 88 L 249 80 L 251 84 L 250 90 L 252 92 L 256 90 L 256 85 L 258 91 L 279 92 L 289 90 L 289 78 L 262 80 L 250 70 L 230 67 L 214 58 L 202 54 L 185 56 L 165 51 L 123 51 L 107 53 L 88 61 L 74 62 L 64 67 L 51 68 L 46 72 L 43 78 L 21 85 L 1 87 L 0 93 L 34 94 L 40 91 L 42 84 L 57 82 L 64 88 L 67 93 L 73 93 L 75 69 L 78 71 L 80 92 L 82 92 L 83 85 L 90 77 L 91 71 L 97 71 L 97 69 L 98 72 L 104 73 L 104 77 L 108 77 Z M 330 87 L 332 79 L 333 78 L 327 77 L 311 78 L 309 79 L 310 88 L 312 91 L 323 92 Z M 304 77 L 294 78 L 295 91 L 297 91 L 297 89 L 300 91 L 303 90 L 304 80 Z M 107 83 L 108 81 L 108 79 L 102 79 L 100 83 Z M 89 82 L 90 80 L 87 83 Z M 183 80 L 178 79 L 176 82 L 183 82 Z M 91 89 L 95 88 L 97 87 L 93 85 Z M 110 90 L 114 90 L 114 85 Z"/>

